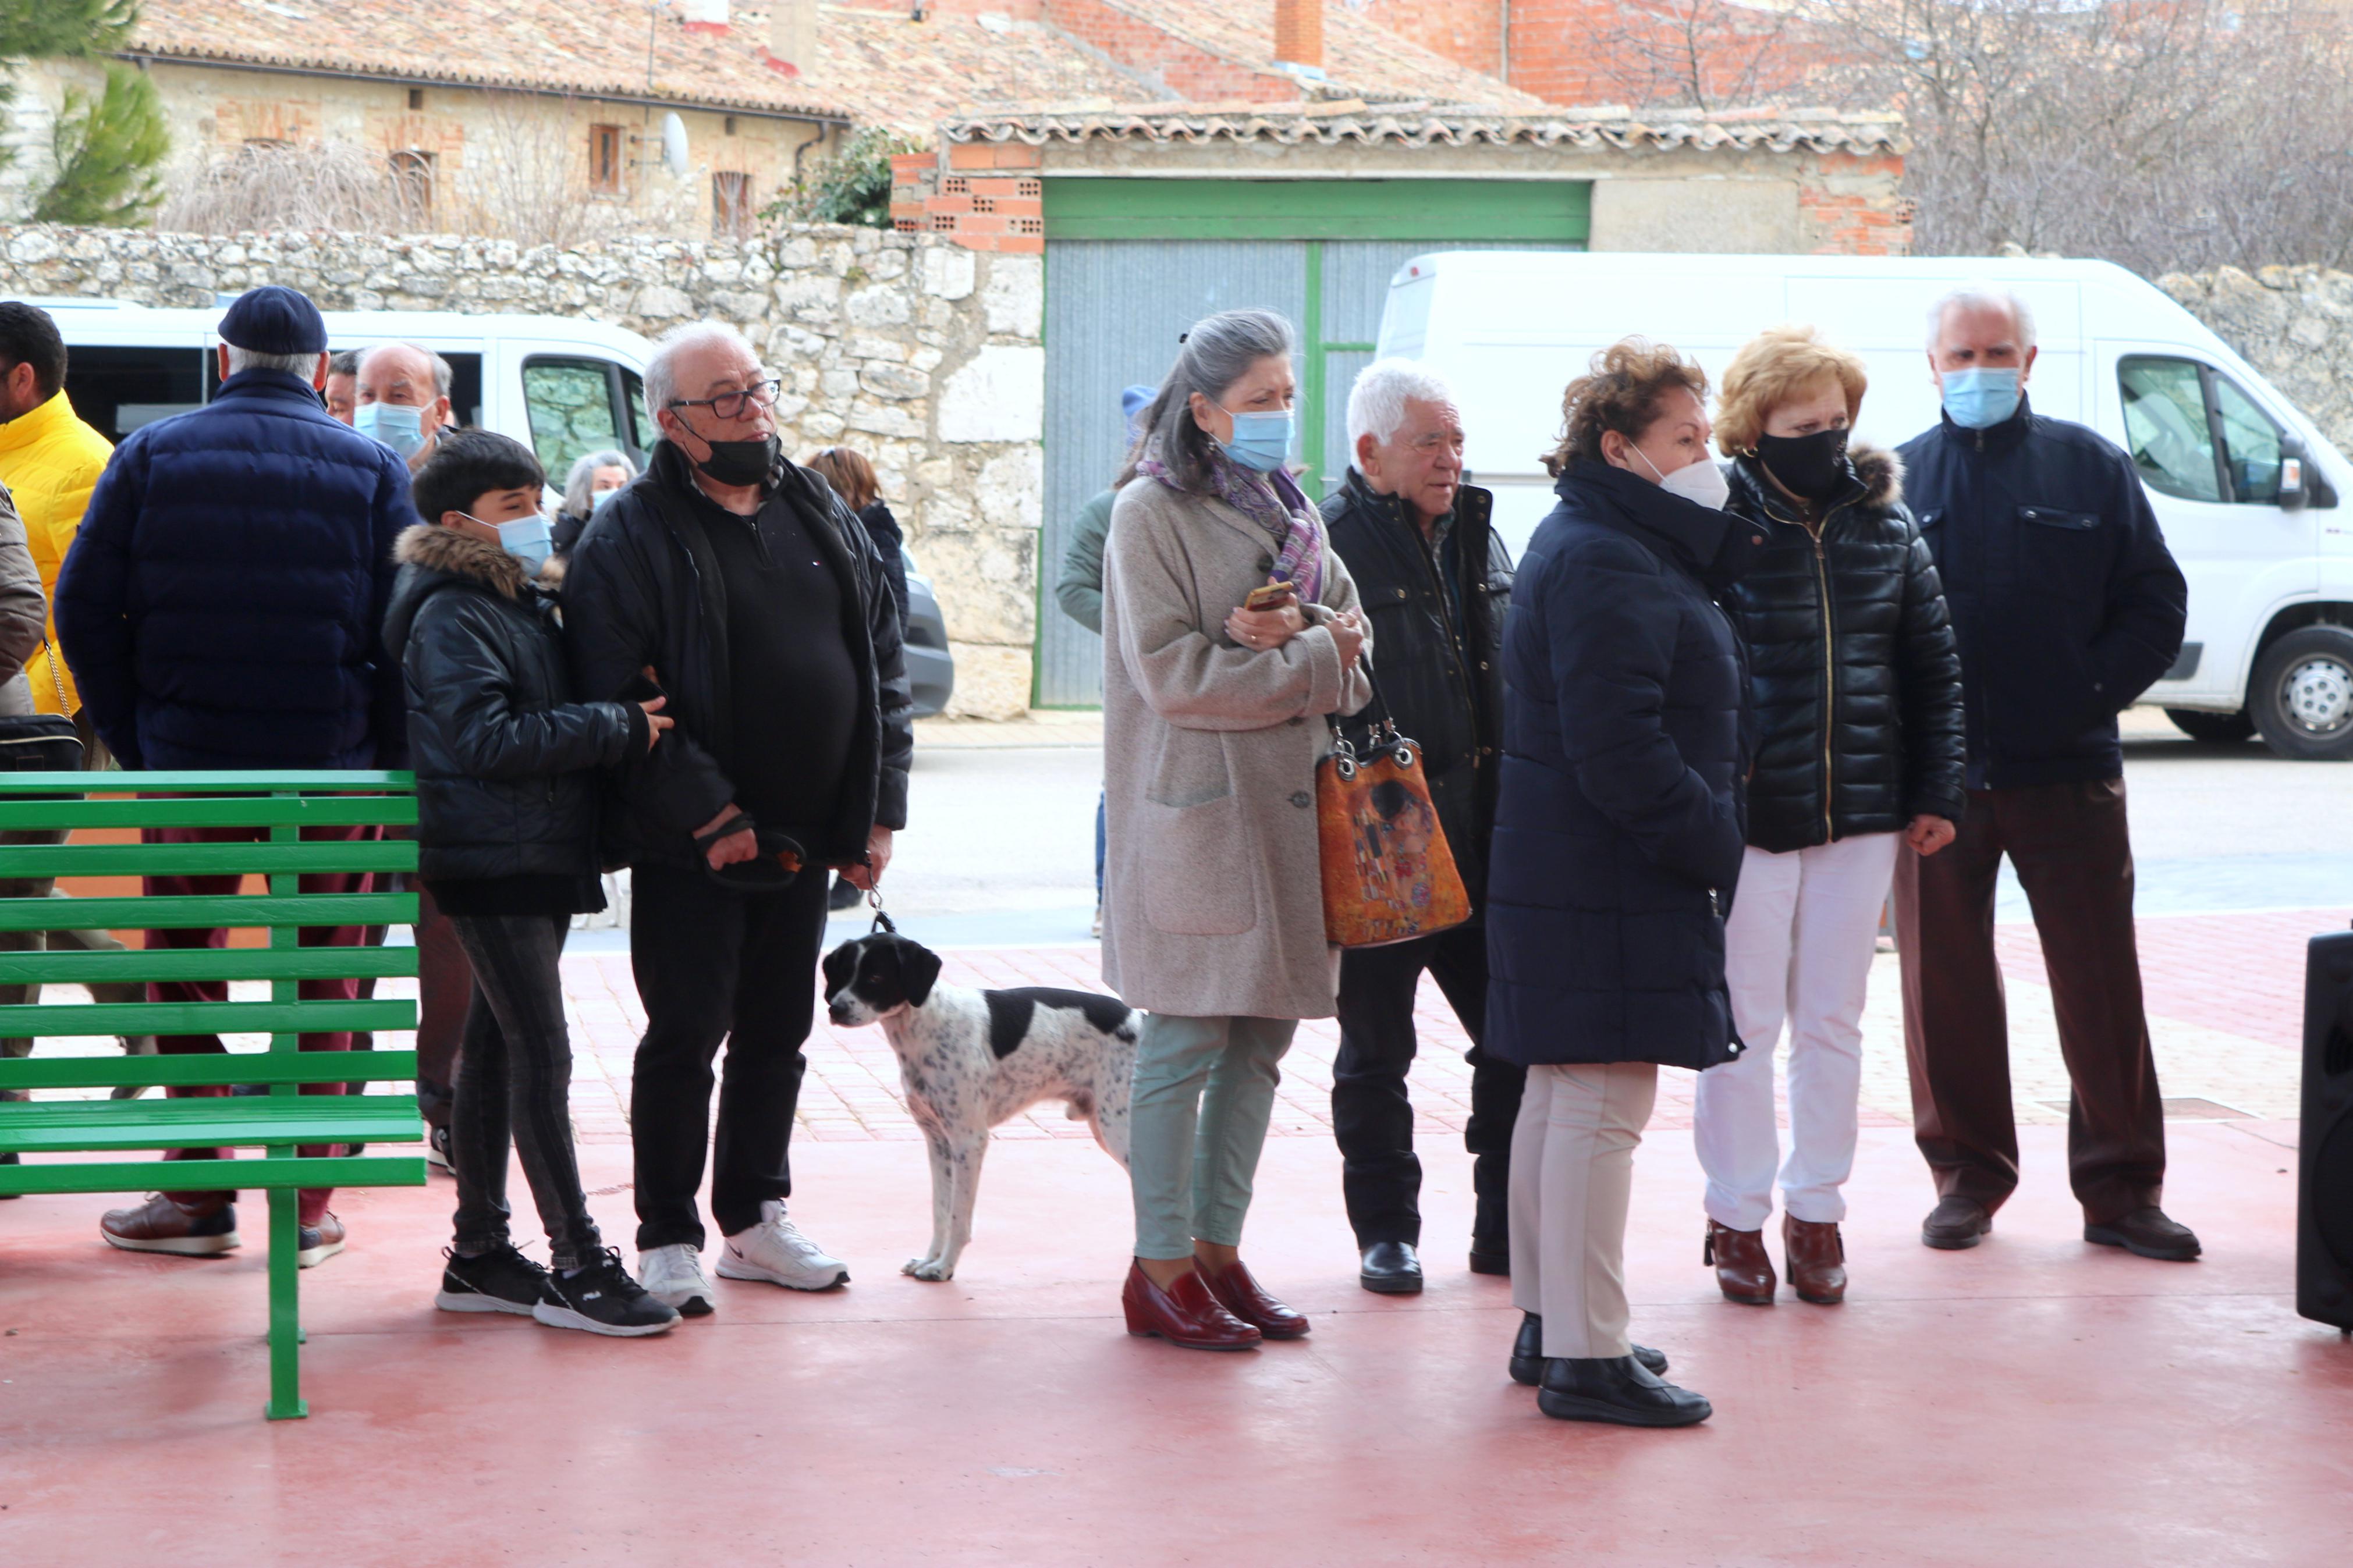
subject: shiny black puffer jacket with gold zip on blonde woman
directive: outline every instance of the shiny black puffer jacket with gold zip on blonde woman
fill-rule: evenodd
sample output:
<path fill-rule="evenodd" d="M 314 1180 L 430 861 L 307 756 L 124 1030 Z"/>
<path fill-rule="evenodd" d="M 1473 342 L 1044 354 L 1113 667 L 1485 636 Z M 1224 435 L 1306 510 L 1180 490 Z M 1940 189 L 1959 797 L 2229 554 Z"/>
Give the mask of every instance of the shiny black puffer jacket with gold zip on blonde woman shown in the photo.
<path fill-rule="evenodd" d="M 1725 592 L 1758 724 L 1748 842 L 1788 853 L 1922 813 L 1958 823 L 1960 654 L 1904 465 L 1857 447 L 1819 538 L 1755 458 L 1727 477 L 1727 510 L 1765 536 Z"/>

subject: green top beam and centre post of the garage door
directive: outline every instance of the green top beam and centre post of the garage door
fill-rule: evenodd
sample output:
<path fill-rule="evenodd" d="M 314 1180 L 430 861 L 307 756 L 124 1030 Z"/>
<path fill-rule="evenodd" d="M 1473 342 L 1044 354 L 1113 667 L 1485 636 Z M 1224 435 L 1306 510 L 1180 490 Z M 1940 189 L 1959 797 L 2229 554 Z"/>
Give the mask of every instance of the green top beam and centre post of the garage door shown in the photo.
<path fill-rule="evenodd" d="M 1301 240 L 1306 310 L 1299 322 L 1299 440 L 1308 475 L 1325 475 L 1325 360 L 1372 353 L 1322 331 L 1325 240 L 1431 244 L 1558 244 L 1593 233 L 1584 179 L 1087 179 L 1045 181 L 1045 247 L 1054 240 Z M 1052 282 L 1047 284 L 1052 287 Z"/>

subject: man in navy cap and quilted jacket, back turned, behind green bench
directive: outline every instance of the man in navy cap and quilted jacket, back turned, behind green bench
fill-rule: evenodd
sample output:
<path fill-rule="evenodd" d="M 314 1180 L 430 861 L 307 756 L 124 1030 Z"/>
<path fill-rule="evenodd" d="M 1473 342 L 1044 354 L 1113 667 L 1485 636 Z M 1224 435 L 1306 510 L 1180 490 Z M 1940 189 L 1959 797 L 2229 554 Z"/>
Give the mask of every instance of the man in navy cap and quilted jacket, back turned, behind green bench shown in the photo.
<path fill-rule="evenodd" d="M 127 769 L 372 769 L 407 757 L 400 668 L 379 651 L 393 538 L 416 522 L 409 475 L 336 423 L 327 322 L 304 294 L 249 289 L 221 317 L 212 402 L 134 430 L 89 496 L 56 578 L 56 632 L 99 738 Z M 261 827 L 148 827 L 160 844 L 254 839 Z M 306 827 L 304 837 L 374 830 Z M 358 893 L 365 875 L 306 875 L 304 893 Z M 148 896 L 235 893 L 238 877 L 148 877 Z M 221 931 L 148 931 L 148 947 L 219 945 Z M 304 931 L 358 945 L 360 926 Z M 358 994 L 304 980 L 304 999 Z M 226 1001 L 221 983 L 151 983 L 153 1001 Z M 162 1053 L 221 1051 L 214 1034 L 160 1034 Z M 344 1051 L 351 1034 L 304 1034 Z M 207 1093 L 202 1088 L 172 1093 Z M 341 1093 L 306 1084 L 304 1093 Z M 322 1150 L 301 1150 L 315 1154 Z M 179 1157 L 219 1157 L 181 1150 Z M 231 1192 L 167 1192 L 99 1229 L 141 1253 L 238 1246 Z M 301 1262 L 344 1248 L 327 1192 L 301 1194 Z"/>

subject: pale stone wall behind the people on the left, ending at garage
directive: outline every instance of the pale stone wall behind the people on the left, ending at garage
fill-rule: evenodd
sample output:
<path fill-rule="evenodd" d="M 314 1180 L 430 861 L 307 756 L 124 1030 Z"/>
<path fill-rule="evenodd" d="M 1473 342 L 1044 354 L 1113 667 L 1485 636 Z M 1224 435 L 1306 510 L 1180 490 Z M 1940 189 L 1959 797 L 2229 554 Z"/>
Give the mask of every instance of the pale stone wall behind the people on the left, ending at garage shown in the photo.
<path fill-rule="evenodd" d="M 261 282 L 327 310 L 569 315 L 659 336 L 734 322 L 784 378 L 786 451 L 866 451 L 939 588 L 969 717 L 1028 710 L 1045 480 L 1042 256 L 791 226 L 576 249 L 459 235 L 158 235 L 0 226 L 0 292 L 214 306 Z"/>

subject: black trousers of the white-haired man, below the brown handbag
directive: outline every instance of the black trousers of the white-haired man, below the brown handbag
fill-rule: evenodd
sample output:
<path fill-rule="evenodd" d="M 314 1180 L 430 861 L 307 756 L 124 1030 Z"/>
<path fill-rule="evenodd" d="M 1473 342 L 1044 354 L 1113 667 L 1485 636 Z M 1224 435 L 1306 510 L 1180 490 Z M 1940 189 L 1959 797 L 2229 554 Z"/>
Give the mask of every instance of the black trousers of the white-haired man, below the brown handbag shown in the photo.
<path fill-rule="evenodd" d="M 1421 971 L 1438 980 L 1471 1032 L 1471 1187 L 1478 1194 L 1473 1241 L 1506 1251 L 1511 1126 L 1520 1117 L 1527 1070 L 1489 1058 L 1487 929 L 1480 922 L 1393 947 L 1353 947 L 1339 959 L 1339 1058 L 1332 1063 L 1332 1133 L 1341 1152 L 1341 1190 L 1358 1246 L 1421 1246 L 1421 1161 L 1414 1159 L 1414 1107 L 1405 1074 L 1414 1065 L 1414 994 Z"/>

